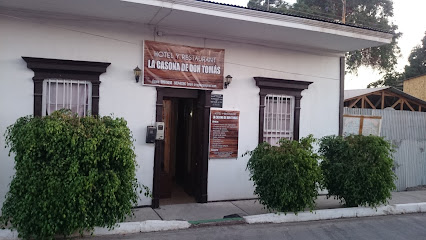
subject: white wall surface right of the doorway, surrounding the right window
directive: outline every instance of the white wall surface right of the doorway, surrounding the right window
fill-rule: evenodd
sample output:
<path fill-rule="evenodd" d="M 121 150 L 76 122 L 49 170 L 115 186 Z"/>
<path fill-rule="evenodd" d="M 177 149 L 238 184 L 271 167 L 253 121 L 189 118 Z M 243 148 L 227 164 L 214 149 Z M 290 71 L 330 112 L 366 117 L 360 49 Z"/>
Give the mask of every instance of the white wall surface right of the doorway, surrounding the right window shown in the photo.
<path fill-rule="evenodd" d="M 246 165 L 256 147 L 259 126 L 259 88 L 253 77 L 272 77 L 313 82 L 302 92 L 300 136 L 338 134 L 339 58 L 310 55 L 239 43 L 211 42 L 224 48 L 225 74 L 233 76 L 223 94 L 223 109 L 240 111 L 238 159 L 209 161 L 209 201 L 253 198 L 253 183 Z"/>

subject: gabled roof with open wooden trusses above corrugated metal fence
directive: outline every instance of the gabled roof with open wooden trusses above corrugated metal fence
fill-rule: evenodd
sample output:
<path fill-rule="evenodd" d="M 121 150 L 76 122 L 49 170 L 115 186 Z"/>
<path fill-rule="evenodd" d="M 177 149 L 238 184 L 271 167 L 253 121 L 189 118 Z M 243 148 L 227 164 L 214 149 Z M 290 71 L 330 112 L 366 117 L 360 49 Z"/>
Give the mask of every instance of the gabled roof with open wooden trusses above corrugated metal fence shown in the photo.
<path fill-rule="evenodd" d="M 426 101 L 411 96 L 393 87 L 345 90 L 344 106 L 426 112 Z"/>

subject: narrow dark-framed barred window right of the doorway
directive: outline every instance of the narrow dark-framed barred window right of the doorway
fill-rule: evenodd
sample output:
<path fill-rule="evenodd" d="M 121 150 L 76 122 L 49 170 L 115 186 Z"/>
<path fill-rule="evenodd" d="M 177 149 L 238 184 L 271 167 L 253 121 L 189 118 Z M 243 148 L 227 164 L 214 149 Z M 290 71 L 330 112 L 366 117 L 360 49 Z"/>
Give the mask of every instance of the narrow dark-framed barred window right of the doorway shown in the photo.
<path fill-rule="evenodd" d="M 255 77 L 260 88 L 259 143 L 277 145 L 281 138 L 299 140 L 302 91 L 312 82 Z"/>

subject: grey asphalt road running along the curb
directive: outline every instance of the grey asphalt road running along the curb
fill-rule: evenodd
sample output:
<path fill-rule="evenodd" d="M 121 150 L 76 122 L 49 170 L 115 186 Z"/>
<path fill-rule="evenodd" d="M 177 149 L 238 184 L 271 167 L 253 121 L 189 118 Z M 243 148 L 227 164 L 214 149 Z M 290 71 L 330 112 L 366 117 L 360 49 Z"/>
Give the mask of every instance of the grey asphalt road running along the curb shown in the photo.
<path fill-rule="evenodd" d="M 86 238 L 88 239 L 88 238 Z M 426 239 L 426 214 L 287 223 L 197 227 L 89 239 Z"/>

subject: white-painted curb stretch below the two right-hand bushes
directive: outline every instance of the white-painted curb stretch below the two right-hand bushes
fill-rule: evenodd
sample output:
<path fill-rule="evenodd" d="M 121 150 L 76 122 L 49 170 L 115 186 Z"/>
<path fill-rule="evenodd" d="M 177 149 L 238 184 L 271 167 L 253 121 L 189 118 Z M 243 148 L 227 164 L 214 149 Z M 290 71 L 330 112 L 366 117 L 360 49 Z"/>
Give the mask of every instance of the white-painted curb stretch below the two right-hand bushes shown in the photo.
<path fill-rule="evenodd" d="M 406 213 L 426 212 L 426 202 L 387 205 L 378 208 L 356 207 L 341 209 L 324 209 L 313 212 L 294 213 L 268 213 L 254 216 L 245 216 L 244 220 L 249 224 L 254 223 L 289 223 L 318 220 L 331 220 L 339 218 L 372 217 L 384 215 L 397 215 Z"/>

